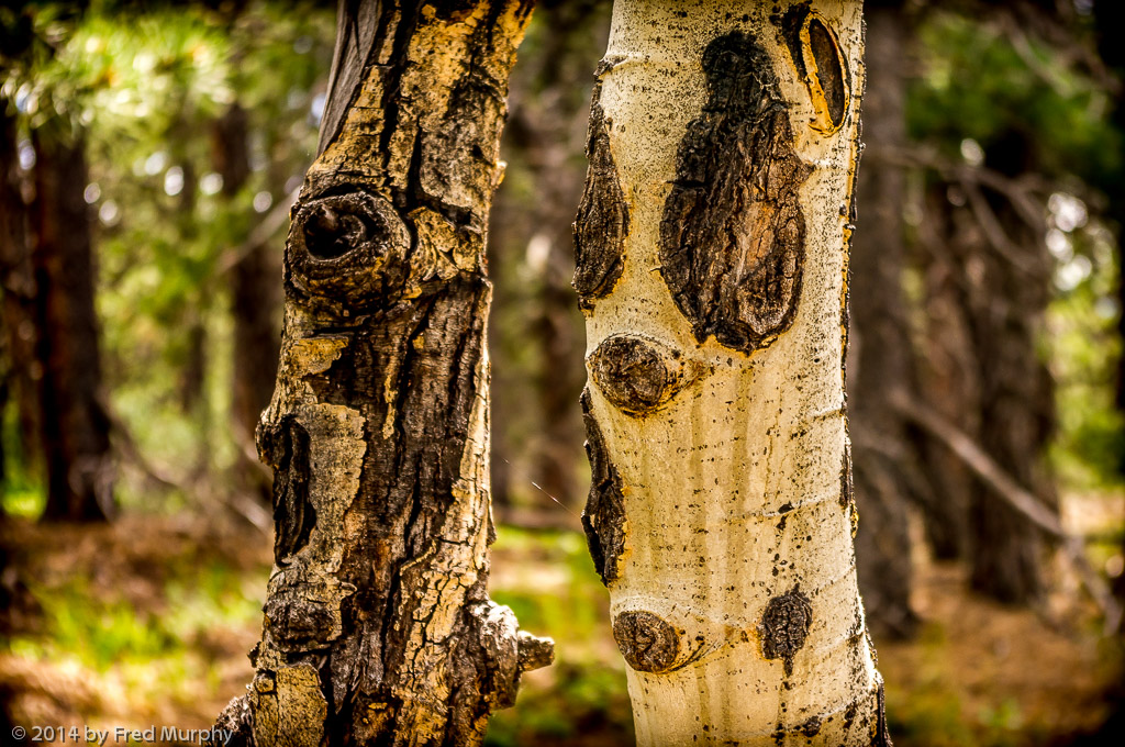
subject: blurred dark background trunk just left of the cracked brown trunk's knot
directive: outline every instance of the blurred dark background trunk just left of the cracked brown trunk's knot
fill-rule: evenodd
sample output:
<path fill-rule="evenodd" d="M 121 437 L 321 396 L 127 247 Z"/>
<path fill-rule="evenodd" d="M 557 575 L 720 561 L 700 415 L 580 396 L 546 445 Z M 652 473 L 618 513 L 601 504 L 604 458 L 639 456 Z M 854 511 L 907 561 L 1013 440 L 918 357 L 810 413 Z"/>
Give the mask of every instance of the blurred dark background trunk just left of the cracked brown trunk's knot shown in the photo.
<path fill-rule="evenodd" d="M 246 111 L 235 104 L 215 123 L 213 152 L 216 172 L 223 177 L 223 195 L 228 199 L 245 186 L 250 177 L 250 143 Z M 234 315 L 232 417 L 238 444 L 253 442 L 262 410 L 273 394 L 277 360 L 281 350 L 276 327 L 278 280 L 270 248 L 258 244 L 231 269 L 231 306 Z M 270 498 L 270 486 L 256 465 L 241 454 L 238 482 L 245 489 Z"/>

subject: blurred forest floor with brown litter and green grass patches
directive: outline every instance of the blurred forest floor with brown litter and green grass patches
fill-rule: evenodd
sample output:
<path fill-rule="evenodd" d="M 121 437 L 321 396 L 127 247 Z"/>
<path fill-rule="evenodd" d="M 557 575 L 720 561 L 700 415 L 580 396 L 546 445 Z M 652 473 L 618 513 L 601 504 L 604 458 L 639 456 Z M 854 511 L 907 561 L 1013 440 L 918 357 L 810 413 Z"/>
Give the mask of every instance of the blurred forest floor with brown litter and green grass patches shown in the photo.
<path fill-rule="evenodd" d="M 153 516 L 93 529 L 17 519 L 3 534 L 17 598 L 0 699 L 16 723 L 206 729 L 250 682 L 270 569 L 262 534 Z M 960 565 L 915 562 L 918 634 L 876 640 L 899 747 L 1062 745 L 1105 720 L 1119 656 L 1065 573 L 1033 612 L 972 595 Z M 631 745 L 623 665 L 580 533 L 501 526 L 492 586 L 523 628 L 555 637 L 558 660 L 524 677 L 489 744 Z"/>

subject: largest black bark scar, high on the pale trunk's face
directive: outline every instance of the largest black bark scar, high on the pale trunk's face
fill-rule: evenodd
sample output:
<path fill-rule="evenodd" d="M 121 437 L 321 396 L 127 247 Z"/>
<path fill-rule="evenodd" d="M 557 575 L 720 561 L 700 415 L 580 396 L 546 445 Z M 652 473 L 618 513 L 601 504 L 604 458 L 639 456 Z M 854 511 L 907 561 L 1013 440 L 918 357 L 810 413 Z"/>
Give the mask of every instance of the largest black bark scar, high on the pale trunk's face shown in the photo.
<path fill-rule="evenodd" d="M 660 274 L 696 340 L 753 352 L 793 323 L 812 173 L 793 150 L 770 55 L 732 32 L 703 52 L 710 89 L 676 153 L 660 220 Z"/>

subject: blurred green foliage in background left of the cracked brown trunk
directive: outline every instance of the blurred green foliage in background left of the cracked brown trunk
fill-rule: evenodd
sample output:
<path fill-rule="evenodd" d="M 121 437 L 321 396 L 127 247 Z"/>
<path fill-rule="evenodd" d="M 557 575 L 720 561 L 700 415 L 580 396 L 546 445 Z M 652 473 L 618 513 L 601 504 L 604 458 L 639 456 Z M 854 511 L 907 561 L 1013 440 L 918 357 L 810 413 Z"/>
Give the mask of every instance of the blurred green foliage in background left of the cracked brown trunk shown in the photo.
<path fill-rule="evenodd" d="M 236 12 L 58 8 L 36 7 L 36 44 L 9 69 L 3 92 L 32 127 L 69 124 L 84 138 L 105 388 L 146 458 L 195 483 L 233 464 L 237 449 L 226 426 L 231 278 L 219 258 L 312 160 L 334 12 L 274 2 Z M 212 141 L 234 104 L 249 117 L 251 173 L 230 195 Z M 271 246 L 280 272 L 280 236 Z M 186 371 L 199 362 L 196 397 Z M 151 482 L 125 477 L 123 503 L 152 507 Z"/>

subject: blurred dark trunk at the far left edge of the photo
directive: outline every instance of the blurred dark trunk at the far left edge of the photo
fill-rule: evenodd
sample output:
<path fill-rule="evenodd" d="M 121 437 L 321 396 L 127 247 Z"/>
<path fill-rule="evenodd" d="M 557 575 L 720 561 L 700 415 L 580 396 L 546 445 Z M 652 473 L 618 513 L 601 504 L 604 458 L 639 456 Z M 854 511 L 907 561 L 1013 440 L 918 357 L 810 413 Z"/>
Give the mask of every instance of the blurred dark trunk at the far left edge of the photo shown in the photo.
<path fill-rule="evenodd" d="M 16 118 L 0 100 L 0 292 L 8 369 L 4 386 L 17 408 L 20 459 L 37 464 L 37 387 L 35 376 L 35 274 L 27 236 L 28 210 L 19 172 Z M 0 410 L 2 412 L 2 410 Z M 4 454 L 9 457 L 10 454 Z"/>

